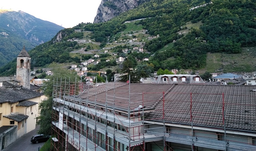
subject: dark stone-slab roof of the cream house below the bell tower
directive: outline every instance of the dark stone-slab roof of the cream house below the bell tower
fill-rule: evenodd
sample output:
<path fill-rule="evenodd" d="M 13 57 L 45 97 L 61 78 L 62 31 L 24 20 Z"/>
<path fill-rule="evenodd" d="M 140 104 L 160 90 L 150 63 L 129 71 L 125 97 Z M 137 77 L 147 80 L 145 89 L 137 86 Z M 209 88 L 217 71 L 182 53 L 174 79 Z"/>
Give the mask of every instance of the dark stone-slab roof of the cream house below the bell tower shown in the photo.
<path fill-rule="evenodd" d="M 43 96 L 42 93 L 38 93 L 26 88 L 5 88 L 0 87 L 0 103 L 2 102 L 18 102 L 23 100 L 32 99 L 35 97 Z"/>

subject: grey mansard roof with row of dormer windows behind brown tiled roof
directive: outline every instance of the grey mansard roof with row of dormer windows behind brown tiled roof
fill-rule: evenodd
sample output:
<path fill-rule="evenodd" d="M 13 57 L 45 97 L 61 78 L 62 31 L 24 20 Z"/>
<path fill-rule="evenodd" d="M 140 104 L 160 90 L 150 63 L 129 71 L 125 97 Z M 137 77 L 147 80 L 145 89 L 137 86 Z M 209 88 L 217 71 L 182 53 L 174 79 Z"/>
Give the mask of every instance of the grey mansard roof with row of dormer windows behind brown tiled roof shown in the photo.
<path fill-rule="evenodd" d="M 204 83 L 203 79 L 199 75 L 190 75 L 190 74 L 165 74 L 165 75 L 156 75 L 154 76 L 154 83 L 165 83 L 165 84 L 174 84 L 174 83 L 184 83 L 184 84 L 202 84 Z"/>

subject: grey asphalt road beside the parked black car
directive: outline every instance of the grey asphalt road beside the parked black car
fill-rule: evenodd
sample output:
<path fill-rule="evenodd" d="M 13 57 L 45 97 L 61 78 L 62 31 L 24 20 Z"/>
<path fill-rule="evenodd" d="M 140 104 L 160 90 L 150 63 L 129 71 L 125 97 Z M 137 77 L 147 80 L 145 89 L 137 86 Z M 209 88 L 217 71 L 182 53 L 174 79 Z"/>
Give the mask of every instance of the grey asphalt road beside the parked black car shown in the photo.
<path fill-rule="evenodd" d="M 37 134 L 38 129 L 39 125 L 36 125 L 33 131 L 28 132 L 2 151 L 38 151 L 38 148 L 41 148 L 44 145 L 44 142 L 38 144 L 30 142 L 31 137 Z"/>

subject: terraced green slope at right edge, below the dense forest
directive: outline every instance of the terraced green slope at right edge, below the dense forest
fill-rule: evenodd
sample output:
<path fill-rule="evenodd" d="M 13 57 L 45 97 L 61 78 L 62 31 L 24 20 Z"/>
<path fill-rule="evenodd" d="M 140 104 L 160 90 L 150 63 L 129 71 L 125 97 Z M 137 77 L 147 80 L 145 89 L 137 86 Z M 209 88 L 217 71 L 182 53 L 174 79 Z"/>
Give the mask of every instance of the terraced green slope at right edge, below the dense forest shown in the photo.
<path fill-rule="evenodd" d="M 252 72 L 256 70 L 256 48 L 243 48 L 242 53 L 208 53 L 208 72 Z"/>

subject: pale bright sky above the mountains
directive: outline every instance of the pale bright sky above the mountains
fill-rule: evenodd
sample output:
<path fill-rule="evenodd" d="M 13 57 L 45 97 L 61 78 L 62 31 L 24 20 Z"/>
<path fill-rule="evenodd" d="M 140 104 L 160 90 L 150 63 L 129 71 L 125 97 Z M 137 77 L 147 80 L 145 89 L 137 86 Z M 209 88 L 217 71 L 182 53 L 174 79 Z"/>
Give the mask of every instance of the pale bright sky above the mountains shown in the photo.
<path fill-rule="evenodd" d="M 93 23 L 101 0 L 1 0 L 0 9 L 23 11 L 64 28 Z"/>

